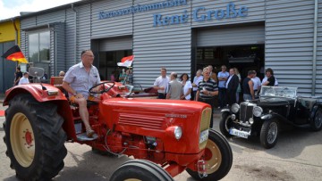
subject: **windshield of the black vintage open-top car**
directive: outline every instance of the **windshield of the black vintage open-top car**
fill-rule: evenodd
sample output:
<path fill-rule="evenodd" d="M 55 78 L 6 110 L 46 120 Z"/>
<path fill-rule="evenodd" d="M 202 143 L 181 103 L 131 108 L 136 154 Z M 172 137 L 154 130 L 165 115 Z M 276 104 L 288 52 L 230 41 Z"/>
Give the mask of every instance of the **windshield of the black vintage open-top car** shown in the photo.
<path fill-rule="evenodd" d="M 262 86 L 260 96 L 296 97 L 297 87 L 287 86 Z"/>

